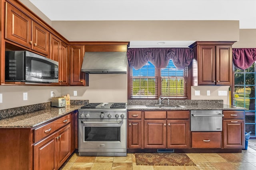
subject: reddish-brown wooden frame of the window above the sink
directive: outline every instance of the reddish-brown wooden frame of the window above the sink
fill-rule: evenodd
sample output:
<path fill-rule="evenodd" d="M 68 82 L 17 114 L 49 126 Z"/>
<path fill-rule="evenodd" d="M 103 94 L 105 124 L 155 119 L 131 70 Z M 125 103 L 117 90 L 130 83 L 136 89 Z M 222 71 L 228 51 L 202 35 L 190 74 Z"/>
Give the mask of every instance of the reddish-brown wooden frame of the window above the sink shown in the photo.
<path fill-rule="evenodd" d="M 190 100 L 191 99 L 191 75 L 192 75 L 192 64 L 190 64 L 188 67 L 187 67 L 187 97 L 173 97 L 173 96 L 162 96 L 162 97 L 168 97 L 170 98 L 171 100 Z M 152 98 L 148 98 L 148 97 L 140 97 L 140 98 L 132 98 L 131 96 L 131 88 L 132 88 L 132 78 L 131 78 L 131 71 L 132 71 L 132 67 L 131 66 L 128 66 L 128 75 L 127 75 L 127 78 L 128 78 L 128 100 L 155 100 L 155 99 L 158 99 L 160 97 L 160 93 L 161 93 L 161 69 L 160 68 L 155 68 L 155 72 L 156 72 L 156 81 L 158 82 L 158 84 L 156 85 L 157 86 L 157 96 L 156 97 L 152 97 Z"/>

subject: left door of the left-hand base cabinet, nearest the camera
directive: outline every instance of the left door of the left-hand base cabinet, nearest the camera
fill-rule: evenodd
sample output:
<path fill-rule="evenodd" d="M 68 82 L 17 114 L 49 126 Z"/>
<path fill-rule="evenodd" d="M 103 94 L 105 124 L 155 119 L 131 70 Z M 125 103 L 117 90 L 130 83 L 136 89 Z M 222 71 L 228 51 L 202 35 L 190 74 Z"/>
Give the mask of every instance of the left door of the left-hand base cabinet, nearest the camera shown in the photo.
<path fill-rule="evenodd" d="M 54 170 L 56 167 L 56 136 L 53 133 L 46 139 L 36 143 L 34 148 L 34 170 Z"/>

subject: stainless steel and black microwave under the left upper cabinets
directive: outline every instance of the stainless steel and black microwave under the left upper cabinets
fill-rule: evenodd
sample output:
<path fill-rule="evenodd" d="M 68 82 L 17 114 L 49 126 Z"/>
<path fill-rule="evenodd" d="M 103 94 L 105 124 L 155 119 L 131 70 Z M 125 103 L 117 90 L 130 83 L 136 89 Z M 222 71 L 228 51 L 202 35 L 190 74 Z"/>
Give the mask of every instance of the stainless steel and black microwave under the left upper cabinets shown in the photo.
<path fill-rule="evenodd" d="M 5 81 L 58 82 L 58 62 L 30 51 L 6 51 Z"/>

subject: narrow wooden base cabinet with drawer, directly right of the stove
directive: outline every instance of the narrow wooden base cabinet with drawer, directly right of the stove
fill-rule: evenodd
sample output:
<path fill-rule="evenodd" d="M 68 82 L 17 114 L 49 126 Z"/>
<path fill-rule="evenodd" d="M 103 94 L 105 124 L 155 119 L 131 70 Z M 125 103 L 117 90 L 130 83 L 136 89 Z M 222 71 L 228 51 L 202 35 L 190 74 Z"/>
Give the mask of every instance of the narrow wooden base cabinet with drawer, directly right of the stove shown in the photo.
<path fill-rule="evenodd" d="M 128 148 L 142 148 L 141 118 L 141 111 L 128 111 Z"/>

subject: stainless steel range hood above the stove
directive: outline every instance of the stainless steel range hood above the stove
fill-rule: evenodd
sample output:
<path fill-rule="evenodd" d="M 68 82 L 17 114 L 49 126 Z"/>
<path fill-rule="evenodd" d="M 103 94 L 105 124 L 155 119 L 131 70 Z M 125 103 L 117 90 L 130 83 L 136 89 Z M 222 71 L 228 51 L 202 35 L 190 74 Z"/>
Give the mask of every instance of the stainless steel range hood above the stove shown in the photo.
<path fill-rule="evenodd" d="M 82 72 L 89 74 L 126 74 L 126 52 L 85 52 Z"/>

